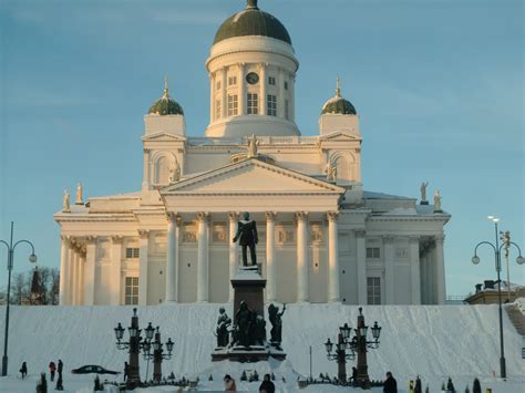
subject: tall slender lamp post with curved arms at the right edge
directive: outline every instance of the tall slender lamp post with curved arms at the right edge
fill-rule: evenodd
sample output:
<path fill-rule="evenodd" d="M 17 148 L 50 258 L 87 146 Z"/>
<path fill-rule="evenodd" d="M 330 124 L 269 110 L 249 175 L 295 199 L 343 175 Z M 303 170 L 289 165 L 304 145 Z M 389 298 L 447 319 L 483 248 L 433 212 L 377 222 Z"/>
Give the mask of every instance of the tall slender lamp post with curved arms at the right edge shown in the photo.
<path fill-rule="evenodd" d="M 508 232 L 508 237 L 502 237 L 502 245 L 500 246 L 498 238 L 497 238 L 497 223 L 500 221 L 500 218 L 496 218 L 494 216 L 488 216 L 488 219 L 494 223 L 494 229 L 496 234 L 496 239 L 495 244 L 492 244 L 490 241 L 480 241 L 476 247 L 474 248 L 474 257 L 472 257 L 472 263 L 477 265 L 480 263 L 480 257 L 477 256 L 477 247 L 481 245 L 487 245 L 491 246 L 492 249 L 494 250 L 494 260 L 495 260 L 495 268 L 496 268 L 496 273 L 497 273 L 497 303 L 498 303 L 498 313 L 500 313 L 500 374 L 501 378 L 505 379 L 507 376 L 506 372 L 506 364 L 505 364 L 505 350 L 503 345 L 503 311 L 502 311 L 502 280 L 501 280 L 501 271 L 502 271 L 502 260 L 501 260 L 501 255 L 502 255 L 502 248 L 505 247 L 506 252 L 508 254 L 508 248 L 511 245 L 515 246 L 519 252 L 519 256 L 516 258 L 516 262 L 518 265 L 523 265 L 525 262 L 525 259 L 522 257 L 522 250 L 518 245 L 516 245 L 514 241 L 511 241 L 511 235 Z M 509 285 L 509 283 L 507 283 Z"/>

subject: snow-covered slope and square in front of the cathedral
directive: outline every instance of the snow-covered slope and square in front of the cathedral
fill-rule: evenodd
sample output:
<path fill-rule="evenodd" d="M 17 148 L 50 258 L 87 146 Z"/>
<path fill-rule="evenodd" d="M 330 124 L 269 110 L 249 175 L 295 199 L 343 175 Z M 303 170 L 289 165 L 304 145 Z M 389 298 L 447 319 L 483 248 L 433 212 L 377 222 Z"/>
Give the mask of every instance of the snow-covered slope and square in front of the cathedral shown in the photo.
<path fill-rule="evenodd" d="M 222 379 L 228 373 L 239 391 L 257 392 L 259 383 L 239 381 L 243 370 L 257 370 L 261 376 L 270 370 L 276 375 L 279 392 L 297 390 L 297 378 L 309 375 L 309 345 L 312 348 L 312 374 L 337 373 L 337 364 L 328 361 L 322 343 L 334 341 L 337 328 L 344 322 L 356 324 L 358 309 L 342 304 L 289 304 L 284 316 L 284 349 L 287 361 L 260 363 L 212 363 L 215 328 L 220 304 L 174 304 L 140 307 L 141 327 L 147 322 L 161 325 L 163 340 L 175 341 L 174 358 L 163 363 L 164 374 L 176 378 L 199 378 L 199 391 L 220 391 Z M 226 304 L 229 316 L 231 306 Z M 0 332 L 3 332 L 6 308 L 0 308 Z M 375 306 L 364 307 L 368 324 L 378 321 L 383 327 L 381 344 L 368 353 L 372 380 L 382 380 L 392 371 L 400 392 L 408 392 L 408 381 L 420 375 L 423 387 L 439 392 L 442 382 L 452 376 L 463 392 L 477 376 L 483 391 L 524 393 L 525 360 L 521 359 L 523 338 L 504 312 L 505 356 L 508 380 L 498 374 L 498 320 L 496 306 Z M 131 307 L 13 307 L 9 335 L 9 376 L 0 378 L 0 392 L 34 392 L 40 372 L 51 360 L 64 362 L 65 392 L 89 392 L 94 375 L 73 375 L 71 369 L 100 364 L 122 370 L 126 351 L 115 349 L 113 328 L 117 322 L 130 324 Z M 126 332 L 127 334 L 127 332 Z M 29 380 L 17 378 L 22 361 L 28 362 Z M 348 364 L 351 369 L 352 364 Z M 145 378 L 146 362 L 141 359 Z M 209 375 L 213 381 L 208 381 Z M 152 375 L 150 364 L 148 378 Z M 286 382 L 282 381 L 285 378 Z M 53 385 L 54 387 L 54 385 Z M 144 392 L 176 392 L 175 387 Z M 311 385 L 303 392 L 352 391 L 327 385 Z M 372 392 L 381 392 L 381 389 Z M 137 392 L 140 392 L 137 390 Z"/>

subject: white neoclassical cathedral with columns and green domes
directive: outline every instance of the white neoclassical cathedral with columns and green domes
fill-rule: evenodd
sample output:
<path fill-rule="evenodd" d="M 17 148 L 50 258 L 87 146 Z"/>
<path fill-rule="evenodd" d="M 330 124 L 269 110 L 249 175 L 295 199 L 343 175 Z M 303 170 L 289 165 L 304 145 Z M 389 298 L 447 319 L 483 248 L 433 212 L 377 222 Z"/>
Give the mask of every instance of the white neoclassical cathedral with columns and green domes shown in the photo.
<path fill-rule="evenodd" d="M 268 302 L 444 303 L 451 216 L 439 194 L 431 204 L 425 184 L 420 201 L 363 188 L 366 131 L 339 81 L 319 131 L 301 135 L 299 60 L 278 19 L 248 0 L 218 28 L 205 66 L 203 136 L 188 136 L 166 80 L 144 115 L 142 188 L 84 201 L 79 185 L 71 204 L 64 195 L 54 215 L 61 304 L 233 301 L 245 211 Z"/>

